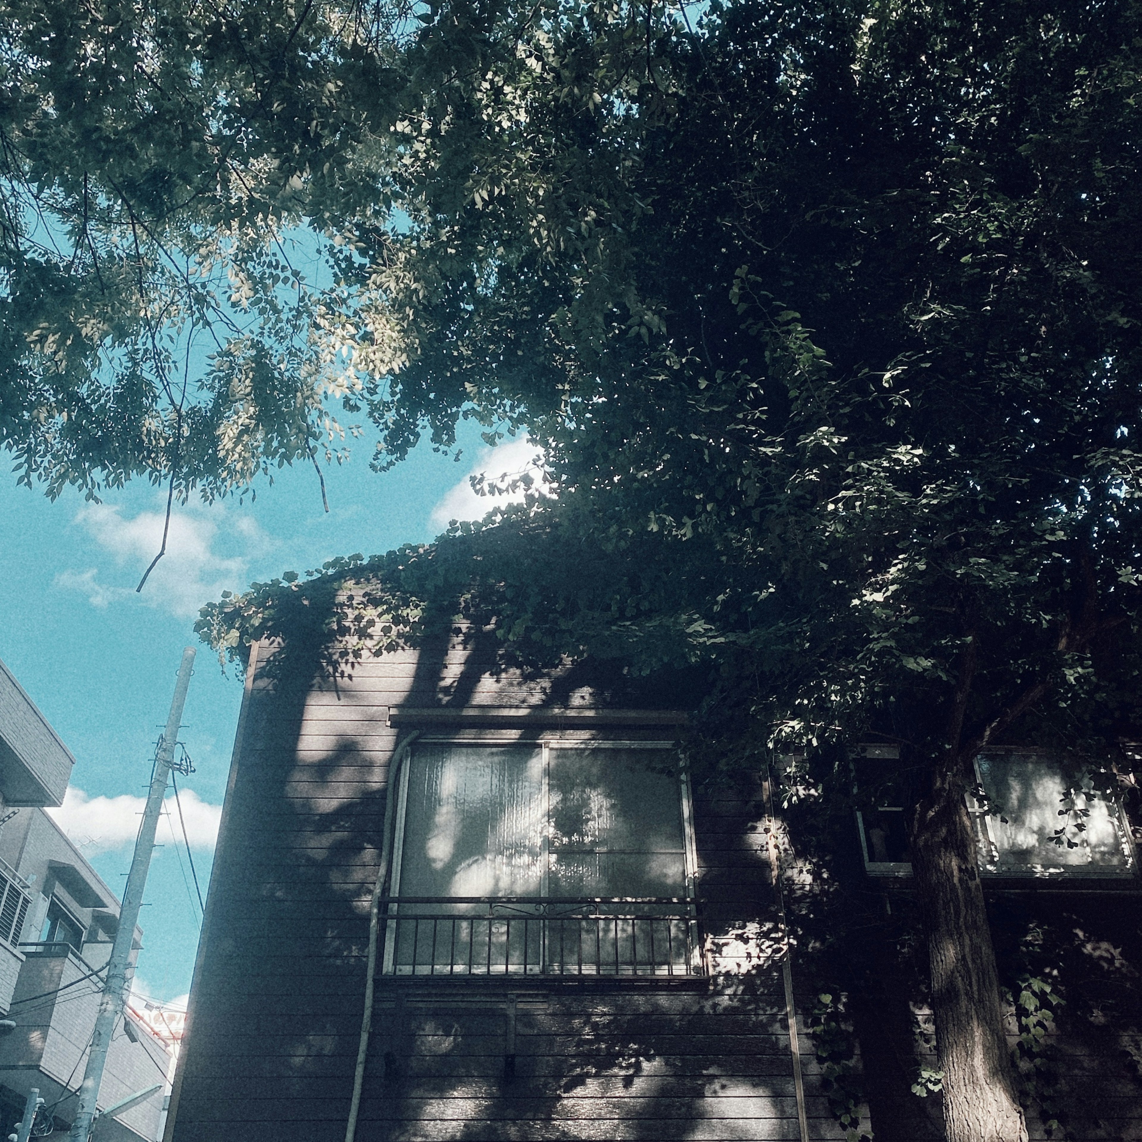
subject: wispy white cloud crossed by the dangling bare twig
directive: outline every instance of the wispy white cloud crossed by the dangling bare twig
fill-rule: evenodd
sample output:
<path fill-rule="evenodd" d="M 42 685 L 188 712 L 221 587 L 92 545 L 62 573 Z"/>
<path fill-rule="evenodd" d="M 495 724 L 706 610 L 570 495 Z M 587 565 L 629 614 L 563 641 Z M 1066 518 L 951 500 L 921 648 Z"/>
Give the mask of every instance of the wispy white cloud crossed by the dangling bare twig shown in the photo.
<path fill-rule="evenodd" d="M 86 594 L 98 608 L 135 595 L 135 584 L 162 546 L 164 512 L 128 517 L 110 504 L 90 504 L 75 516 L 75 523 L 127 572 L 131 584 L 103 582 L 98 570 L 88 568 L 61 572 L 56 586 Z M 167 553 L 137 597 L 177 618 L 193 618 L 203 603 L 223 590 L 241 589 L 249 578 L 249 556 L 265 546 L 266 536 L 252 518 L 230 514 L 223 505 L 177 508 L 170 517 Z M 226 547 L 236 552 L 224 554 Z"/>

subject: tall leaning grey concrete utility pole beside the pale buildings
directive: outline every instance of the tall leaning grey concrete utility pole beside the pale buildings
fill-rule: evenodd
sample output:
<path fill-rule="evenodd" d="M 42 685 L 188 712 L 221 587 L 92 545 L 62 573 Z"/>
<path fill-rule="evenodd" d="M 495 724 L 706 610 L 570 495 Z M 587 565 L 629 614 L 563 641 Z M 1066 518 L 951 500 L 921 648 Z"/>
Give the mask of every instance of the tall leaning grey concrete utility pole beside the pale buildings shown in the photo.
<path fill-rule="evenodd" d="M 183 664 L 178 668 L 175 697 L 170 702 L 170 717 L 167 718 L 167 729 L 159 741 L 159 750 L 154 758 L 151 791 L 147 794 L 143 823 L 139 826 L 139 835 L 135 842 L 131 870 L 127 875 L 123 906 L 119 910 L 119 930 L 115 932 L 115 940 L 111 946 L 107 980 L 103 986 L 103 995 L 99 997 L 99 1011 L 95 1018 L 95 1034 L 91 1037 L 91 1051 L 87 1056 L 87 1070 L 83 1072 L 83 1083 L 79 1088 L 79 1112 L 75 1115 L 75 1121 L 72 1123 L 69 1142 L 88 1142 L 91 1134 L 95 1104 L 99 1097 L 103 1068 L 107 1061 L 107 1047 L 111 1046 L 115 1024 L 123 1012 L 123 992 L 127 990 L 127 968 L 130 966 L 135 925 L 138 923 L 143 890 L 146 887 L 146 875 L 151 868 L 154 831 L 159 827 L 162 799 L 167 795 L 167 777 L 170 773 L 170 763 L 175 759 L 178 727 L 183 721 L 183 706 L 186 703 L 186 689 L 191 684 L 191 668 L 193 666 L 194 648 L 187 646 L 183 651 Z"/>

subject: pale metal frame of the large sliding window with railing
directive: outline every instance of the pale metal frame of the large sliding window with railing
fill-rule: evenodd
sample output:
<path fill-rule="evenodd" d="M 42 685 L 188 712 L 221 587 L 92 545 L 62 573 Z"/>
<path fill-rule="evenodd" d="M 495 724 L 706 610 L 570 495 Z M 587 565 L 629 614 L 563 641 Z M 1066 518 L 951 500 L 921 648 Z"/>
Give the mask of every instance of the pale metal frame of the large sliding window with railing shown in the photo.
<path fill-rule="evenodd" d="M 435 732 L 435 733 L 423 733 L 417 734 L 415 738 L 405 739 L 404 742 L 399 743 L 396 751 L 394 753 L 394 761 L 400 762 L 399 772 L 396 774 L 396 789 L 395 789 L 395 811 L 393 820 L 393 831 L 392 841 L 389 842 L 389 851 L 385 854 L 387 855 L 387 899 L 391 901 L 387 907 L 386 916 L 396 917 L 400 915 L 400 895 L 401 895 L 401 872 L 402 866 L 404 863 L 404 830 L 405 821 L 408 817 L 409 806 L 409 785 L 411 781 L 412 772 L 412 755 L 417 746 L 450 746 L 453 748 L 465 748 L 465 747 L 500 747 L 500 748 L 540 748 L 542 749 L 542 791 L 540 794 L 542 805 L 544 805 L 544 818 L 549 825 L 550 822 L 550 754 L 553 749 L 561 750 L 589 750 L 589 749 L 640 749 L 640 750 L 656 750 L 664 754 L 669 754 L 673 756 L 674 762 L 677 765 L 678 771 L 678 804 L 682 818 L 682 856 L 683 856 L 683 878 L 685 895 L 682 898 L 669 898 L 679 900 L 686 908 L 686 916 L 690 923 L 697 923 L 698 917 L 698 846 L 694 836 L 694 815 L 693 815 L 693 796 L 690 781 L 690 766 L 686 763 L 685 756 L 678 749 L 677 741 L 667 741 L 664 739 L 627 739 L 627 738 L 605 738 L 605 737 L 570 737 L 563 735 L 560 731 L 540 732 L 536 737 L 523 735 L 523 734 L 509 734 L 505 733 L 502 730 L 468 730 L 467 732 Z M 549 830 L 545 827 L 542 836 L 540 837 L 540 860 L 541 860 L 541 894 L 537 899 L 549 899 L 548 898 L 548 876 L 550 870 L 550 837 Z M 510 900 L 514 898 L 504 898 L 505 900 Z M 523 898 L 521 898 L 523 899 Z M 574 898 L 569 898 L 574 899 Z M 603 898 L 605 899 L 605 898 Z M 667 899 L 667 898 L 664 898 Z M 689 965 L 689 971 L 691 973 L 690 978 L 695 974 L 705 974 L 705 952 L 701 948 L 701 941 L 697 940 L 694 942 L 694 956 L 697 957 L 693 963 Z M 384 940 L 384 954 L 381 956 L 381 967 L 380 973 L 392 979 L 401 978 L 401 973 L 397 972 L 396 965 L 396 946 L 393 938 L 386 934 Z M 423 980 L 423 975 L 411 975 L 412 979 Z M 428 976 L 432 978 L 432 976 Z M 556 980 L 561 979 L 558 974 L 555 975 L 544 975 L 545 980 Z M 579 978 L 581 976 L 573 976 Z M 604 976 L 606 978 L 606 976 Z M 625 979 L 626 976 L 619 976 Z M 649 976 L 632 976 L 632 978 L 649 978 Z"/>

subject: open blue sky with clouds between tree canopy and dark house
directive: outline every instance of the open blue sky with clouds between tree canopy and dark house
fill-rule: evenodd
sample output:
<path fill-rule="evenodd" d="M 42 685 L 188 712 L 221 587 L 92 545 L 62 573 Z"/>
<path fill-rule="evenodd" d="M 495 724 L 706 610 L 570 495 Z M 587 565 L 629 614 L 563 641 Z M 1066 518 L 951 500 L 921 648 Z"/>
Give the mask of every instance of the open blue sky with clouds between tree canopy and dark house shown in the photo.
<path fill-rule="evenodd" d="M 328 515 L 312 466 L 259 482 L 252 501 L 176 507 L 167 557 L 142 595 L 135 586 L 158 550 L 161 492 L 136 484 L 97 505 L 74 493 L 53 504 L 17 488 L 14 476 L 0 480 L 0 658 L 75 756 L 59 820 L 112 888 L 122 891 L 140 807 L 128 798 L 145 793 L 183 646 L 195 645 L 180 740 L 196 772 L 179 789 L 206 891 L 242 687 L 196 642 L 199 606 L 224 589 L 335 555 L 431 539 L 450 517 L 477 518 L 488 501 L 472 493 L 467 476 L 518 471 L 530 450 L 509 442 L 492 463 L 473 426 L 460 443 L 459 463 L 423 445 L 384 475 L 369 471 L 361 448 L 348 464 L 325 469 Z M 138 965 L 138 990 L 161 1000 L 187 991 L 200 923 L 186 853 L 169 829 L 160 825 L 166 846 L 147 884 Z"/>

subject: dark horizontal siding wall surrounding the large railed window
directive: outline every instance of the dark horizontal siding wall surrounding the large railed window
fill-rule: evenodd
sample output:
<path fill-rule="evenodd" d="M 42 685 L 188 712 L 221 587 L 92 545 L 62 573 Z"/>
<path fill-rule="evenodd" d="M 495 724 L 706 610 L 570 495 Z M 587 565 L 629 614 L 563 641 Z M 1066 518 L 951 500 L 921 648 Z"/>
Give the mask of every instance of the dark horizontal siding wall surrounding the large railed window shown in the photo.
<path fill-rule="evenodd" d="M 604 701 L 573 671 L 498 674 L 458 641 L 337 683 L 315 673 L 278 657 L 248 681 L 168 1142 L 340 1136 L 389 709 Z M 782 982 L 754 940 L 775 918 L 759 817 L 756 801 L 695 805 L 700 892 L 721 936 L 710 979 L 383 978 L 359 1142 L 798 1139 Z M 811 1136 L 839 1140 L 801 1043 Z"/>

